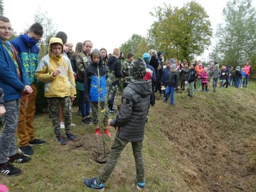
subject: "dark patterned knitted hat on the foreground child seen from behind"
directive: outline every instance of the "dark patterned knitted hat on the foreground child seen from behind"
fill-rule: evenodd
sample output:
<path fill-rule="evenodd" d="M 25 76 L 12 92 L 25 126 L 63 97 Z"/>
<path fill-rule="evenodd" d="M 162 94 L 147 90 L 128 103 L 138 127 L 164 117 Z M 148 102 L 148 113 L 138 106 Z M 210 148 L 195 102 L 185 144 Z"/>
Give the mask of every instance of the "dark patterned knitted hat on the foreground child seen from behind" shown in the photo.
<path fill-rule="evenodd" d="M 149 54 L 149 53 L 144 53 Z M 136 58 L 132 61 L 129 67 L 129 75 L 133 80 L 142 80 L 146 74 L 146 63 L 141 58 Z"/>

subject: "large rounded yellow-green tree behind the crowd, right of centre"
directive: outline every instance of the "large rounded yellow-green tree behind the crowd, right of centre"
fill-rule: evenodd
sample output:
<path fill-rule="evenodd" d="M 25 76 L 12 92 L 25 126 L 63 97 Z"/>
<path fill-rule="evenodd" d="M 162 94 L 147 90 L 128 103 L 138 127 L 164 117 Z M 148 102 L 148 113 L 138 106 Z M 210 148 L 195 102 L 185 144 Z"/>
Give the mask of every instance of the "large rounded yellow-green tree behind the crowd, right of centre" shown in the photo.
<path fill-rule="evenodd" d="M 191 1 L 181 9 L 164 4 L 155 8 L 157 18 L 149 29 L 149 41 L 169 58 L 190 59 L 210 45 L 212 28 L 203 7 Z"/>

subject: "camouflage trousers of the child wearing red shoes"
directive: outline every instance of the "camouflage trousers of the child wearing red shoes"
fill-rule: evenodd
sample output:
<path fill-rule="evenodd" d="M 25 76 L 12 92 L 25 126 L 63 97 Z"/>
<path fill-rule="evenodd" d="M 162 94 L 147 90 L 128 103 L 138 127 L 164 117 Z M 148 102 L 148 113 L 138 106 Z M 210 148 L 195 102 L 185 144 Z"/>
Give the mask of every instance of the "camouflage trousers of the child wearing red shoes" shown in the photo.
<path fill-rule="evenodd" d="M 92 122 L 97 125 L 100 121 L 100 126 L 106 128 L 107 119 L 109 119 L 109 114 L 107 112 L 107 106 L 105 106 L 105 102 L 92 102 Z"/>

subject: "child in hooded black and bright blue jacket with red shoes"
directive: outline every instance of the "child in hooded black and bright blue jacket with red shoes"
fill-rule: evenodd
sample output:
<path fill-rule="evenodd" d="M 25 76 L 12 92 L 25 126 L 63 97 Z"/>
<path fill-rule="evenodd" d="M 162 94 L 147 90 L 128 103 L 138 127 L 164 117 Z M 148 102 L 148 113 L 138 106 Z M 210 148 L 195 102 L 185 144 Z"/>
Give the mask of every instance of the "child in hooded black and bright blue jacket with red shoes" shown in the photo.
<path fill-rule="evenodd" d="M 102 123 L 107 127 L 107 82 L 106 82 L 106 69 L 102 65 L 102 54 L 100 50 L 95 48 L 91 51 L 90 57 L 92 64 L 85 69 L 85 103 L 91 103 L 92 107 L 92 122 L 95 124 L 95 134 L 101 135 L 99 122 L 99 114 L 102 112 Z M 109 130 L 106 128 L 104 133 L 111 137 Z"/>

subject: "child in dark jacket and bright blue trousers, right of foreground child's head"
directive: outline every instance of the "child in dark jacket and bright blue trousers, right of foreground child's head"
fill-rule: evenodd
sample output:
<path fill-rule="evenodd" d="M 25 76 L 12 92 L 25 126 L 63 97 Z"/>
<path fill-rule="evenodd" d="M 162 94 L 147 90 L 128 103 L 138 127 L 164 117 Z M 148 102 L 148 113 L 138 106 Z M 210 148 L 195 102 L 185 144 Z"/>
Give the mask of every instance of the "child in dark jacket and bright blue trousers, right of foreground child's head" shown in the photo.
<path fill-rule="evenodd" d="M 171 65 L 171 71 L 167 75 L 165 85 L 166 85 L 165 99 L 166 101 L 168 100 L 169 92 L 171 92 L 170 105 L 174 105 L 174 91 L 178 87 L 178 73 L 175 72 L 174 65 Z"/>

